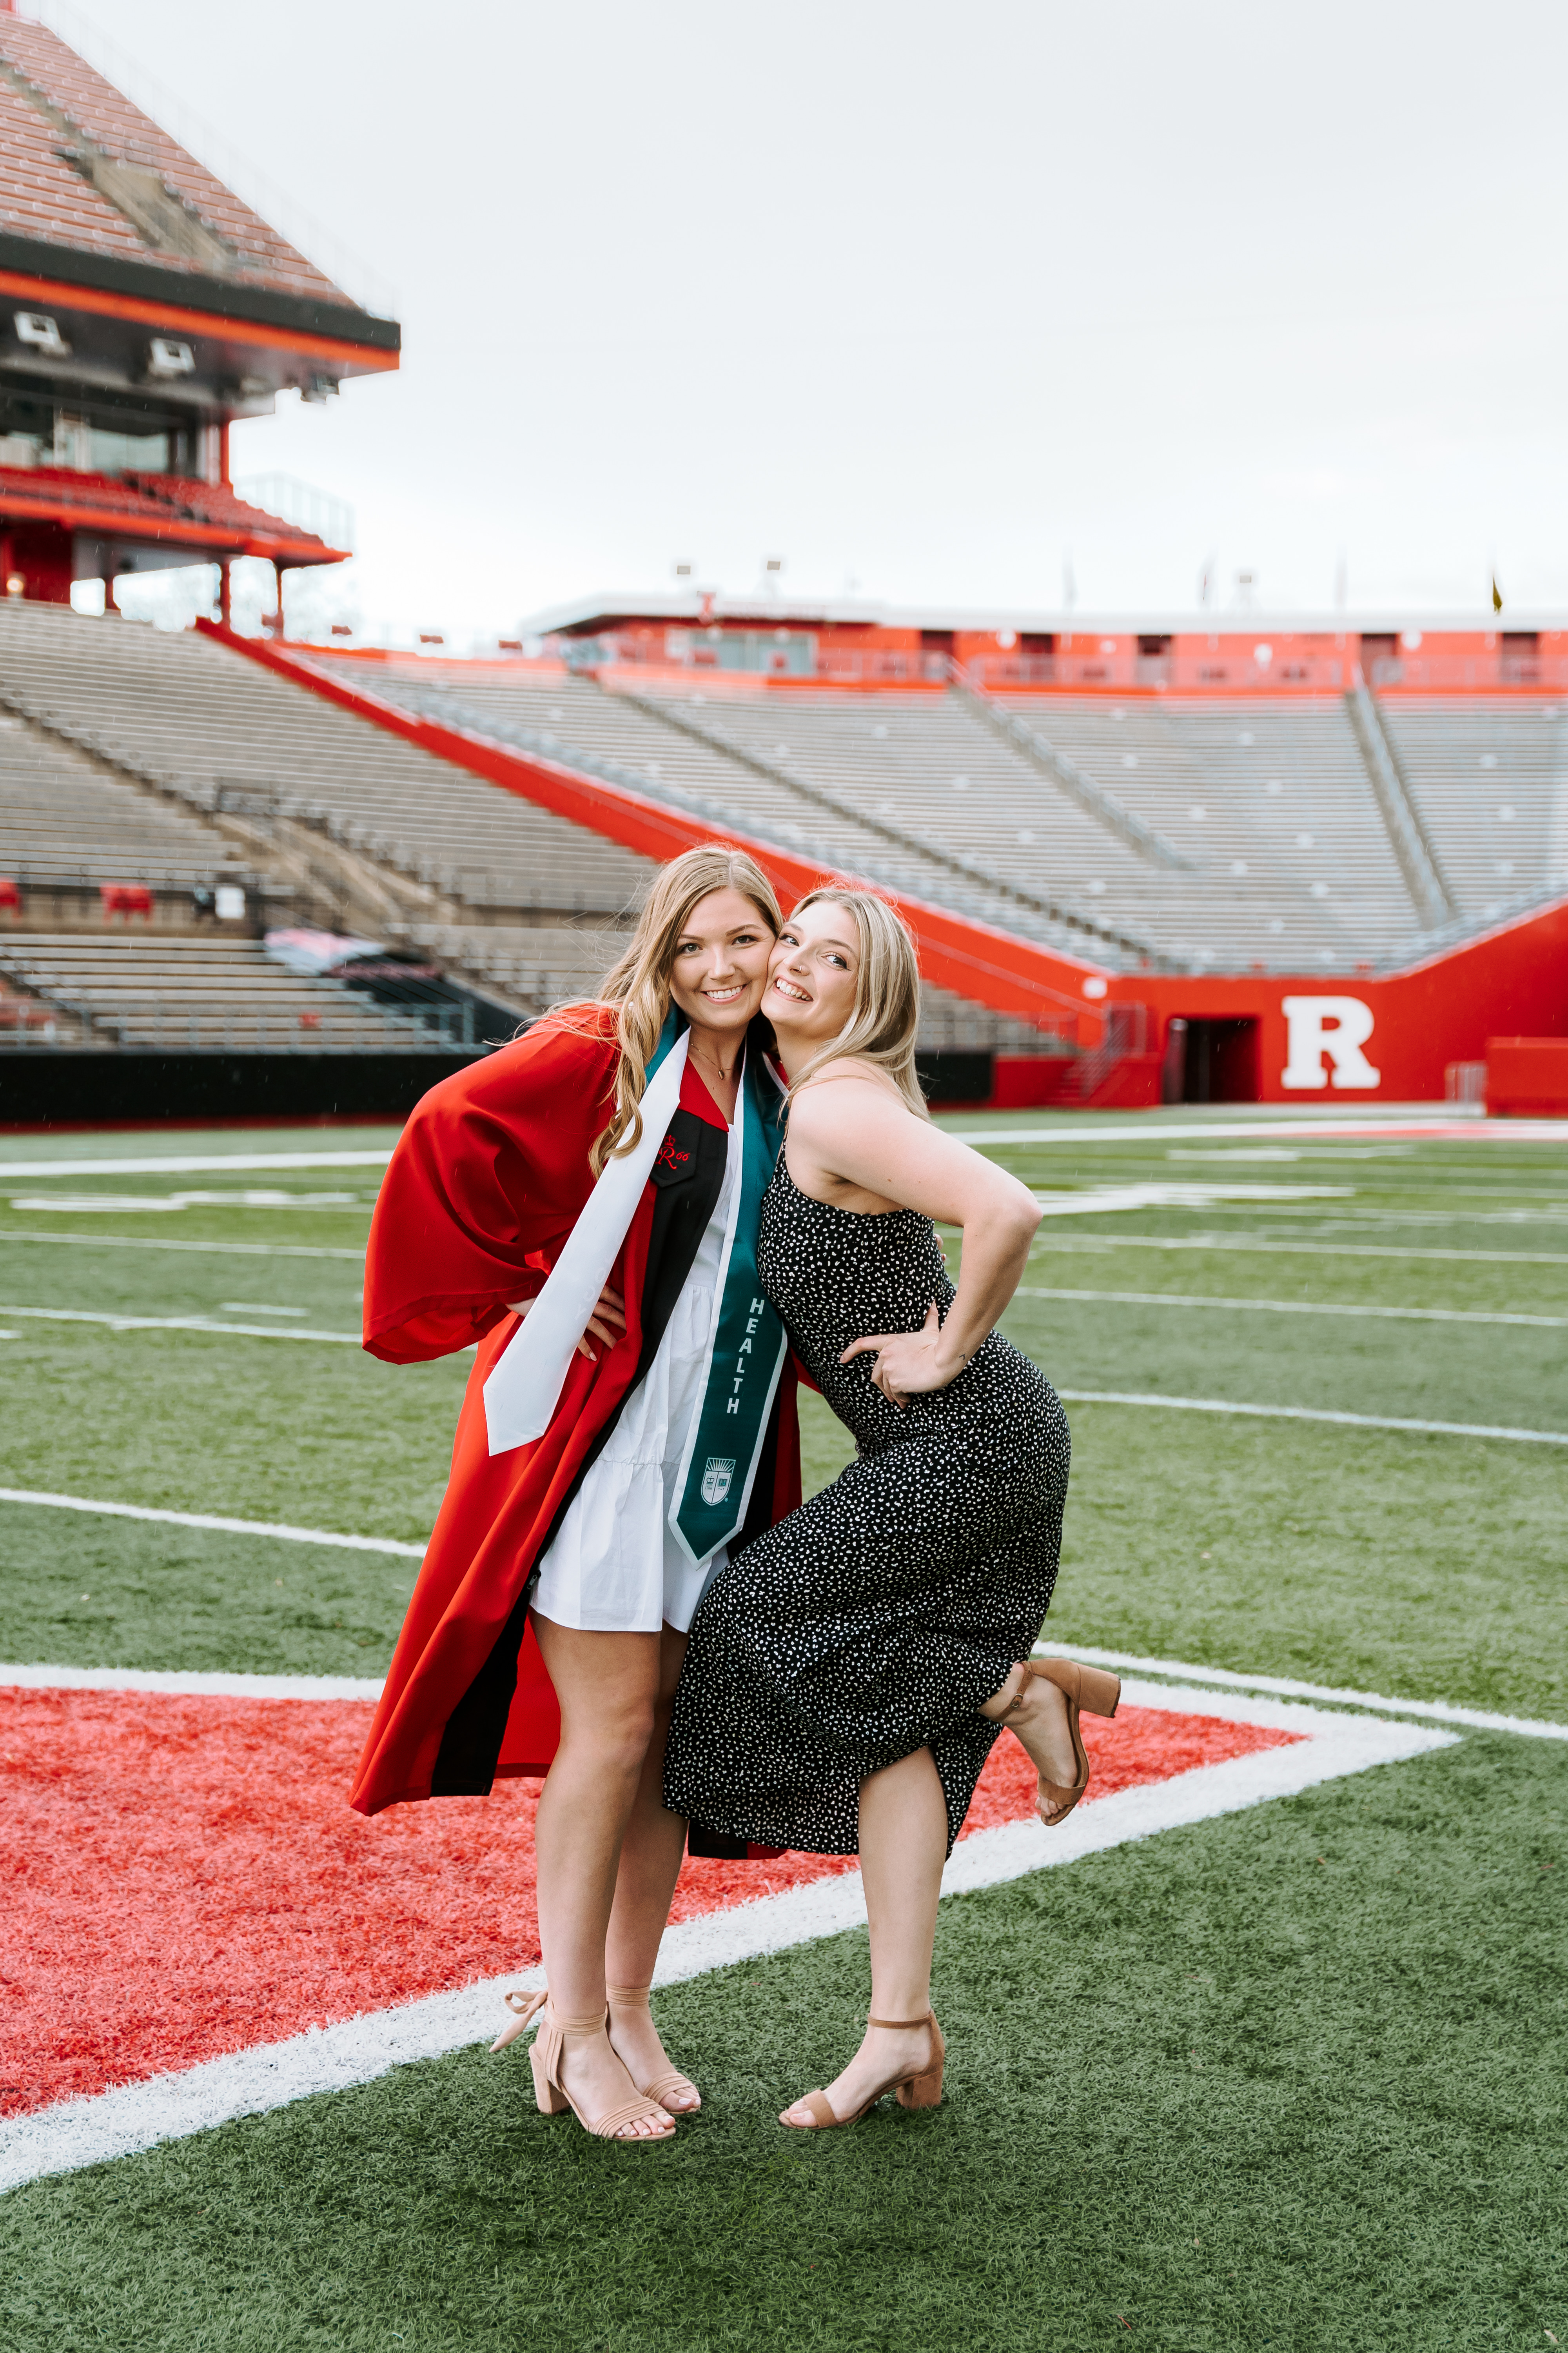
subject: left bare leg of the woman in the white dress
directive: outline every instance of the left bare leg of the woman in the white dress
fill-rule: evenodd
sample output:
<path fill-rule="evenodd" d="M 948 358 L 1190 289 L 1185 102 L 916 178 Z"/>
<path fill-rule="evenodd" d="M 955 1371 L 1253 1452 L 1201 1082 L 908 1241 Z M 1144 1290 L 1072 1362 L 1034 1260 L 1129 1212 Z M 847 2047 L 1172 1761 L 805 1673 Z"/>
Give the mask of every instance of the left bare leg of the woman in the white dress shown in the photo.
<path fill-rule="evenodd" d="M 658 1635 L 585 1633 L 538 1612 L 534 1635 L 562 1708 L 562 1741 L 534 1826 L 538 1941 L 550 2002 L 562 2017 L 588 2019 L 604 2012 L 604 1939 L 654 1734 Z M 635 2099 L 609 2042 L 574 2045 L 571 2089 L 588 2115 Z"/>

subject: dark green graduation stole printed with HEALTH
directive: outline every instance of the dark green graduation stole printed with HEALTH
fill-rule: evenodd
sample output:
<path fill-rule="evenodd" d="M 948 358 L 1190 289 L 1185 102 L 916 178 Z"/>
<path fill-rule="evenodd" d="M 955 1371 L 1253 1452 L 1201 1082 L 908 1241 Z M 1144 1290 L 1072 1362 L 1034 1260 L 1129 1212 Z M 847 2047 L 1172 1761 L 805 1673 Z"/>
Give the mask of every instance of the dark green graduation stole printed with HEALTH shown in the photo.
<path fill-rule="evenodd" d="M 684 1028 L 684 1024 L 679 1024 Z M 677 1038 L 670 1012 L 649 1078 Z M 691 1424 L 677 1478 L 670 1527 L 691 1560 L 708 1560 L 745 1522 L 757 1461 L 785 1360 L 785 1327 L 757 1282 L 762 1195 L 783 1141 L 785 1099 L 762 1049 L 745 1042 L 741 1068 L 741 1169 L 729 1205 L 724 1261 L 708 1341 L 703 1405 Z"/>

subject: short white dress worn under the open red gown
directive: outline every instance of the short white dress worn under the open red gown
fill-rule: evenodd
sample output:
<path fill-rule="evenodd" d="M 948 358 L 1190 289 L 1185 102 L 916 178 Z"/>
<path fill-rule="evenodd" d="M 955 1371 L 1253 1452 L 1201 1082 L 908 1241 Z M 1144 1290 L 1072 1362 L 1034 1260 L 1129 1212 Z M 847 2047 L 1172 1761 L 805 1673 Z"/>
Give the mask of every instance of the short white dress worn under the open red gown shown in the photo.
<path fill-rule="evenodd" d="M 691 1560 L 670 1527 L 670 1511 L 686 1438 L 703 1405 L 736 1167 L 738 1134 L 731 1127 L 719 1200 L 654 1362 L 625 1400 L 538 1565 L 534 1609 L 555 1626 L 658 1633 L 663 1621 L 686 1633 L 703 1586 L 729 1560 L 726 1546 Z"/>

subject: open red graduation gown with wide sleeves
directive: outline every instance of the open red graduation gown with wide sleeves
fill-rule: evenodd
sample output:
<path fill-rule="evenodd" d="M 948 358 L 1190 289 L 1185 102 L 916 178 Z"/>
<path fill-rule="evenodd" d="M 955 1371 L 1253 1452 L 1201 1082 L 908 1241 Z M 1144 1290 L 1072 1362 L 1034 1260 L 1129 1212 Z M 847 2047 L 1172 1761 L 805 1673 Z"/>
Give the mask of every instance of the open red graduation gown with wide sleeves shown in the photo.
<path fill-rule="evenodd" d="M 583 1028 L 592 1021 L 599 1035 L 578 1035 L 571 1021 Z M 489 1454 L 484 1381 L 517 1329 L 508 1299 L 543 1289 L 592 1191 L 588 1151 L 611 1118 L 616 1052 L 609 1016 L 581 1009 L 569 1021 L 545 1016 L 527 1038 L 433 1087 L 386 1172 L 364 1259 L 364 1346 L 388 1365 L 428 1362 L 475 1341 L 480 1353 L 458 1414 L 447 1497 L 350 1793 L 362 1814 L 409 1798 L 475 1793 L 489 1788 L 489 1772 L 543 1774 L 555 1755 L 559 1711 L 524 1624 L 522 1593 L 574 1478 L 637 1374 L 644 1282 L 651 1285 L 651 1179 L 611 1273 L 625 1299 L 625 1337 L 599 1351 L 597 1362 L 571 1358 L 543 1438 Z M 691 1061 L 679 1108 L 724 1129 Z M 762 1506 L 764 1525 L 799 1504 L 790 1360 L 773 1431 L 757 1473 L 762 1485 L 771 1459 L 771 1492 L 752 1506 L 752 1513 Z M 501 1708 L 505 1732 L 496 1753 Z M 477 1751 L 468 1746 L 468 1767 L 463 1744 L 454 1748 L 447 1739 L 454 1713 L 454 1729 L 489 1722 Z"/>

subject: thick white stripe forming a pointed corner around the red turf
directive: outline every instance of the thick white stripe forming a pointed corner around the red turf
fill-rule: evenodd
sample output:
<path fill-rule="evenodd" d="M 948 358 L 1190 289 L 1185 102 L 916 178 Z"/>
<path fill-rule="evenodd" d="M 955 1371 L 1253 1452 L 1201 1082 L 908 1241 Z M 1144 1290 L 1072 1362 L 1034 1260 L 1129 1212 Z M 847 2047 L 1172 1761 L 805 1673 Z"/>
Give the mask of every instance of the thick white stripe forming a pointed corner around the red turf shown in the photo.
<path fill-rule="evenodd" d="M 1215 1706 L 1211 1692 L 1180 1694 L 1150 1685 L 1147 1692 L 1128 1687 L 1126 1697 L 1138 1706 L 1166 1706 L 1175 1713 L 1229 1715 L 1239 1722 L 1267 1720 L 1300 1729 L 1307 1739 L 1288 1748 L 1232 1758 L 1225 1765 L 1199 1765 L 1194 1772 L 1173 1774 L 1168 1781 L 1145 1788 L 1117 1791 L 1112 1798 L 1081 1805 L 1058 1831 L 1046 1831 L 1037 1821 L 978 1831 L 954 1849 L 943 1873 L 945 1897 L 999 1887 L 1053 1864 L 1074 1864 L 1086 1854 L 1105 1854 L 1131 1840 L 1152 1838 L 1157 1831 L 1175 1831 L 1244 1807 L 1267 1805 L 1272 1798 L 1295 1798 L 1321 1781 L 1448 1748 L 1458 1739 L 1453 1732 L 1429 1732 L 1422 1725 L 1324 1715 L 1314 1708 L 1269 1708 L 1265 1701 Z M 1190 1699 L 1197 1706 L 1187 1706 Z M 863 1920 L 865 1901 L 858 1871 L 705 1913 L 698 1920 L 682 1920 L 665 1929 L 656 1984 L 682 1984 L 741 1960 L 837 1937 L 842 1929 L 860 1927 Z M 0 2125 L 0 2191 L 19 2188 L 40 2174 L 63 2174 L 82 2165 L 127 2158 L 155 2148 L 160 2141 L 209 2132 L 240 2115 L 261 2115 L 296 2099 L 348 2092 L 355 2085 L 374 2082 L 376 2075 L 386 2075 L 395 2066 L 444 2059 L 473 2042 L 489 2042 L 505 2024 L 501 1993 L 505 1988 L 531 1991 L 541 1984 L 543 1969 L 482 1979 L 458 1993 L 433 1993 L 393 2009 L 346 2019 L 339 2026 L 310 2028 L 284 2042 L 207 2059 L 172 2075 L 155 2075 L 150 2082 L 129 2082 L 115 2092 L 56 2101 L 35 2115 L 12 2118 Z M 510 2064 L 515 2066 L 520 2057 L 512 2052 Z"/>

